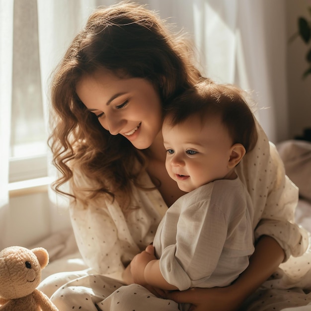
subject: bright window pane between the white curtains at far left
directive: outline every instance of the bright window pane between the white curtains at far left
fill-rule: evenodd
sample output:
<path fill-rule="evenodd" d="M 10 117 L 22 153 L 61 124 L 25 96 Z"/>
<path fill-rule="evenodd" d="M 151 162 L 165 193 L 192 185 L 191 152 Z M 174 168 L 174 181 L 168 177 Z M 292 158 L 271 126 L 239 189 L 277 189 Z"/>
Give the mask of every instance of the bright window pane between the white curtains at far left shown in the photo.
<path fill-rule="evenodd" d="M 36 0 L 14 0 L 9 182 L 47 176 Z"/>

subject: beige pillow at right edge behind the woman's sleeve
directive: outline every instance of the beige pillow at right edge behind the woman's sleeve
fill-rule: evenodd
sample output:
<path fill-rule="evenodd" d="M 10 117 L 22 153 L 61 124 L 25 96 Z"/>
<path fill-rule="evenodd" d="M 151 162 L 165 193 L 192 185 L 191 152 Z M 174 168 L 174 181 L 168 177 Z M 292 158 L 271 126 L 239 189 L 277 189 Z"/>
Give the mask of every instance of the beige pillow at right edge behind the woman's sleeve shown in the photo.
<path fill-rule="evenodd" d="M 276 147 L 286 175 L 297 185 L 300 196 L 311 202 L 311 143 L 289 140 Z"/>

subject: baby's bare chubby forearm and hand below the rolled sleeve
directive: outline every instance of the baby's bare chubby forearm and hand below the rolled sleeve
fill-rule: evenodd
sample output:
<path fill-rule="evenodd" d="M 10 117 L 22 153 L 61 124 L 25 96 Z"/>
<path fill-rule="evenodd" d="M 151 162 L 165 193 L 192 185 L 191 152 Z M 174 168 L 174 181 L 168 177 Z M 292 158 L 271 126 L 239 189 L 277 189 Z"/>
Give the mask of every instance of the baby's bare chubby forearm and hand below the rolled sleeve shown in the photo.
<path fill-rule="evenodd" d="M 155 256 L 155 248 L 148 245 L 146 250 L 136 255 L 131 261 L 131 272 L 135 283 L 151 285 L 163 290 L 176 290 L 177 287 L 167 283 L 163 278 L 159 260 Z"/>

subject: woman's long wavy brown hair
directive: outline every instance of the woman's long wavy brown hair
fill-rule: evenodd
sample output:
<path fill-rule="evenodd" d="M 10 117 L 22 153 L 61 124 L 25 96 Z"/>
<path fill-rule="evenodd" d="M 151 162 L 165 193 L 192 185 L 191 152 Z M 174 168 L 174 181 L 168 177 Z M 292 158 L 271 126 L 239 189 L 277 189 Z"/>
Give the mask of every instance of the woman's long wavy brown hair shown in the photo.
<path fill-rule="evenodd" d="M 143 188 L 138 177 L 146 166 L 146 156 L 126 138 L 110 135 L 100 125 L 79 100 L 76 84 L 98 68 L 121 74 L 121 78 L 146 78 L 159 91 L 164 107 L 199 77 L 186 42 L 184 35 L 170 32 L 164 21 L 143 5 L 121 2 L 100 7 L 89 16 L 51 84 L 53 130 L 49 144 L 53 163 L 61 173 L 54 183 L 57 192 L 69 194 L 61 186 L 72 179 L 76 169 L 95 185 L 85 189 L 81 196 L 85 202 L 99 194 L 114 199 L 118 193 L 129 200 L 132 183 Z M 76 198 L 78 192 L 73 190 L 69 195 Z"/>

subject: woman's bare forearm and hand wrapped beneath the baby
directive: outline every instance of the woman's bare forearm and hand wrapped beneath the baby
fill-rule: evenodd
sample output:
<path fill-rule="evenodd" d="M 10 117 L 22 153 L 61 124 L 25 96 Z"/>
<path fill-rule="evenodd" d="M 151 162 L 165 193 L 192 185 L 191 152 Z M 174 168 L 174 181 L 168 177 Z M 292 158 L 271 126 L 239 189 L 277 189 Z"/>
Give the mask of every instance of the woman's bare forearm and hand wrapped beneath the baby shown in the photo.
<path fill-rule="evenodd" d="M 168 293 L 167 298 L 177 303 L 193 304 L 193 311 L 236 311 L 276 271 L 284 256 L 283 249 L 274 238 L 261 236 L 249 266 L 232 285 L 174 291 Z"/>

